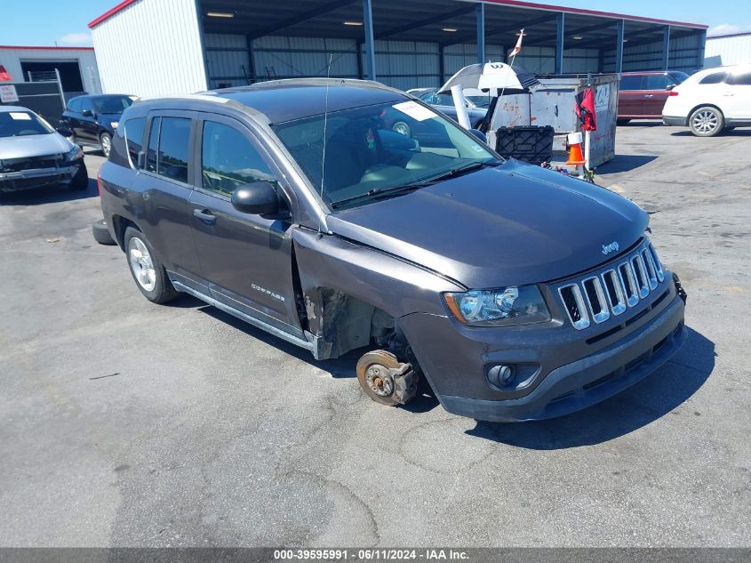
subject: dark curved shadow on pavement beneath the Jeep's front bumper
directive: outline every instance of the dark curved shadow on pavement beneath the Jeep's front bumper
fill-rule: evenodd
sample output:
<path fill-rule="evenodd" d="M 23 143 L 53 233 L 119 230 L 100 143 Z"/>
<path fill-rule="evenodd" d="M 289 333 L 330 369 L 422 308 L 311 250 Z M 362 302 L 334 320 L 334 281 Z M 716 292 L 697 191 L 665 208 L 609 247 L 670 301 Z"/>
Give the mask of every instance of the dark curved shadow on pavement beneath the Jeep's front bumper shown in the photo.
<path fill-rule="evenodd" d="M 665 366 L 602 403 L 545 421 L 478 421 L 467 434 L 509 446 L 553 450 L 600 444 L 638 430 L 691 398 L 715 368 L 715 343 L 687 330 L 683 350 Z"/>

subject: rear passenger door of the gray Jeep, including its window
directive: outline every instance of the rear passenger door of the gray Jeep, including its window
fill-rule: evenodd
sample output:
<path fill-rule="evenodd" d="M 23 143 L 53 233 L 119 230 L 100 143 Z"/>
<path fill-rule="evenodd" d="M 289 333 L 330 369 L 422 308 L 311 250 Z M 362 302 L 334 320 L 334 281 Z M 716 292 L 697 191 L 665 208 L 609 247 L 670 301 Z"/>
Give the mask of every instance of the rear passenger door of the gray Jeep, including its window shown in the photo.
<path fill-rule="evenodd" d="M 141 201 L 133 204 L 142 207 L 139 226 L 172 272 L 171 277 L 208 294 L 200 275 L 188 203 L 194 181 L 191 155 L 195 124 L 195 112 L 148 115 L 147 150 L 141 157 L 144 166 L 132 184 Z M 128 131 L 125 133 L 127 136 Z"/>

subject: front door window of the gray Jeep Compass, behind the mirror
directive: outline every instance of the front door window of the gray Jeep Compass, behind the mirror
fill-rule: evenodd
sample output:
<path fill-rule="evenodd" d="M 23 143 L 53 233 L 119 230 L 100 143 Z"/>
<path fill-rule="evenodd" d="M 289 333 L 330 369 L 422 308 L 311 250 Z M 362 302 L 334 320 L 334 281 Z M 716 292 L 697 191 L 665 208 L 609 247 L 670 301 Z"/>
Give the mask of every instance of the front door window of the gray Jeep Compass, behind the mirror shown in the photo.
<path fill-rule="evenodd" d="M 274 173 L 251 141 L 234 127 L 212 121 L 204 122 L 201 176 L 204 189 L 226 196 L 254 181 L 268 181 L 276 186 Z"/>

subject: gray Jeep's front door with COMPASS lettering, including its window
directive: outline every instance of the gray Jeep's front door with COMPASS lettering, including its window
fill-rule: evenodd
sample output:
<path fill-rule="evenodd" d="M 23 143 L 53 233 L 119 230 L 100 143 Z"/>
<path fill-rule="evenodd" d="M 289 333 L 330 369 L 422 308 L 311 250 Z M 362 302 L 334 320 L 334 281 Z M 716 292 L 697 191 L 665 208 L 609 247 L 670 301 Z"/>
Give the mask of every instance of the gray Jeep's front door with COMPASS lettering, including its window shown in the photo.
<path fill-rule="evenodd" d="M 247 126 L 229 117 L 205 117 L 195 154 L 200 177 L 190 207 L 212 296 L 302 338 L 292 281 L 292 223 L 240 213 L 230 202 L 235 189 L 254 181 L 271 182 L 281 195 L 281 174 Z"/>

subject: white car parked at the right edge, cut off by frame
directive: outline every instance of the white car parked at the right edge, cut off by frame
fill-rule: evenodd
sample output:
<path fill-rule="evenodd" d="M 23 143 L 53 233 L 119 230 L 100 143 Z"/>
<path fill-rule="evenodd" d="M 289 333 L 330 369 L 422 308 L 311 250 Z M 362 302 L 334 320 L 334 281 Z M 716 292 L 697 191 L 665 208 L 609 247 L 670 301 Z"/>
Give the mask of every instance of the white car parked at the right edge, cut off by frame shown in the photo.
<path fill-rule="evenodd" d="M 751 126 L 751 64 L 707 68 L 689 76 L 670 91 L 662 122 L 690 127 L 697 137 Z"/>

